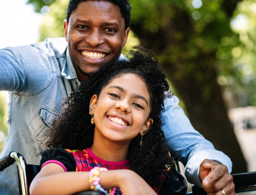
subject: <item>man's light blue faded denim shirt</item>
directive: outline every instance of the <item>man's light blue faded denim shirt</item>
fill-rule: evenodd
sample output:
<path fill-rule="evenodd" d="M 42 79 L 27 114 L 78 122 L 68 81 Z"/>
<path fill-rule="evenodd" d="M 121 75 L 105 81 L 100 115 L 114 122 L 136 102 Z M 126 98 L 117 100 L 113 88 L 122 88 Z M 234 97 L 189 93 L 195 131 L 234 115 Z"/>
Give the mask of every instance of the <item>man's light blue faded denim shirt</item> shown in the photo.
<path fill-rule="evenodd" d="M 119 60 L 124 58 L 121 55 Z M 45 150 L 43 135 L 58 115 L 63 99 L 78 85 L 64 38 L 0 49 L 0 90 L 10 93 L 9 134 L 1 156 L 17 151 L 28 164 L 39 164 L 38 154 Z M 230 158 L 195 131 L 178 103 L 175 96 L 165 100 L 163 131 L 171 155 L 186 166 L 187 180 L 202 185 L 199 166 L 206 158 L 225 164 L 231 172 Z M 17 194 L 16 171 L 12 165 L 0 172 L 0 194 Z"/>

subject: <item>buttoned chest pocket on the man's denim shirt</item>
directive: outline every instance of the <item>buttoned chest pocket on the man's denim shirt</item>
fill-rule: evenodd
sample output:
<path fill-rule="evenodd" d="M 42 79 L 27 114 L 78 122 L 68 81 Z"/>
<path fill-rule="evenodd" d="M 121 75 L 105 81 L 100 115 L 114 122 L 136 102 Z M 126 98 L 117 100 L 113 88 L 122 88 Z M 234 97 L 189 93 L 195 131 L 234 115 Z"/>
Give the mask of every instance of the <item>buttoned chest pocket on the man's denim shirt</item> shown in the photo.
<path fill-rule="evenodd" d="M 33 137 L 37 140 L 41 140 L 52 125 L 52 122 L 56 119 L 59 114 L 47 107 L 42 107 L 36 116 L 31 120 L 29 129 L 33 134 Z"/>

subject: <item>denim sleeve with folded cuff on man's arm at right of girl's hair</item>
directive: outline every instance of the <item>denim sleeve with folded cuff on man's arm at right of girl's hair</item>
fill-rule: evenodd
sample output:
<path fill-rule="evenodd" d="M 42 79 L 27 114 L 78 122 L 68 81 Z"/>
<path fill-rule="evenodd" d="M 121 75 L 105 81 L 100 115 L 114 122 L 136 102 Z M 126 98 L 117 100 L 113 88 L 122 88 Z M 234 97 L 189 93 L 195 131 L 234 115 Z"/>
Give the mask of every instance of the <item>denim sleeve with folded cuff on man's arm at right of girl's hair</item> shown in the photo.
<path fill-rule="evenodd" d="M 213 144 L 192 127 L 176 96 L 164 102 L 163 131 L 172 156 L 185 165 L 185 175 L 190 183 L 199 187 L 199 166 L 204 159 L 218 161 L 231 173 L 232 162 L 227 155 L 214 149 Z"/>

